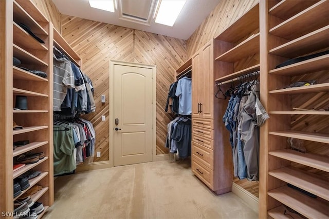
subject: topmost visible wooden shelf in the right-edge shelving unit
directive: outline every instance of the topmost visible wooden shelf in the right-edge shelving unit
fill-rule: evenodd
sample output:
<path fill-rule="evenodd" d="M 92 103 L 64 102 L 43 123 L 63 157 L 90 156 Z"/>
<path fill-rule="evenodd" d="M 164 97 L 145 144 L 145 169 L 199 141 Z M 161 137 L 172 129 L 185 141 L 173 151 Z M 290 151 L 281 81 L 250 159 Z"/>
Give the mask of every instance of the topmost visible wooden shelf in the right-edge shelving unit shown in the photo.
<path fill-rule="evenodd" d="M 296 15 L 297 13 L 305 10 L 309 6 L 312 6 L 315 2 L 319 0 L 282 0 L 274 7 L 269 10 L 271 15 L 280 17 L 281 19 L 288 19 L 291 16 Z"/>

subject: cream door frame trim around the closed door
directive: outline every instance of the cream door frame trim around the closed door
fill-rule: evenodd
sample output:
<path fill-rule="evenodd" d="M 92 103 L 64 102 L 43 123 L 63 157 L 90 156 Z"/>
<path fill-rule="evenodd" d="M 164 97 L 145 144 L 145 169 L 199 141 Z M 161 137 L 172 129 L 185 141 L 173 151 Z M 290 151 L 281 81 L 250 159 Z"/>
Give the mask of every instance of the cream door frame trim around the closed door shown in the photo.
<path fill-rule="evenodd" d="M 109 61 L 109 163 L 114 167 L 114 66 L 132 66 L 152 69 L 152 161 L 156 159 L 156 66 L 139 63 L 129 63 L 111 60 Z"/>

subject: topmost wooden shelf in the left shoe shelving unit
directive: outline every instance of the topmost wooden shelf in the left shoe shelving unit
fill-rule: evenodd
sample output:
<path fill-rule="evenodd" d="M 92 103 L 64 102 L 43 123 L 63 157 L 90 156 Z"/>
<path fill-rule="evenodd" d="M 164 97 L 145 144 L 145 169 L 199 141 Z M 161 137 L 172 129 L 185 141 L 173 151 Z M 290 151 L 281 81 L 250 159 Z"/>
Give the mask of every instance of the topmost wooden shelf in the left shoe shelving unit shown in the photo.
<path fill-rule="evenodd" d="M 48 35 L 48 32 L 36 22 L 19 4 L 13 1 L 14 21 L 28 26 L 35 35 Z"/>

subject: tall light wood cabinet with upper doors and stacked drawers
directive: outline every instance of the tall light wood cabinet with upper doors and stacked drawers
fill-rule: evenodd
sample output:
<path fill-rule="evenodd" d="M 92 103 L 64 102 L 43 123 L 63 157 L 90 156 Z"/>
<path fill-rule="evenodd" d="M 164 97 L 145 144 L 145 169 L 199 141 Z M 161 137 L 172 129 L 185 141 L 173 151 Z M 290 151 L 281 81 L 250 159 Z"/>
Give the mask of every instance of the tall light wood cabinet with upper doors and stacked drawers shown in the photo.
<path fill-rule="evenodd" d="M 211 190 L 223 194 L 231 191 L 232 162 L 231 149 L 218 134 L 214 48 L 216 41 L 212 40 L 192 56 L 192 172 Z"/>

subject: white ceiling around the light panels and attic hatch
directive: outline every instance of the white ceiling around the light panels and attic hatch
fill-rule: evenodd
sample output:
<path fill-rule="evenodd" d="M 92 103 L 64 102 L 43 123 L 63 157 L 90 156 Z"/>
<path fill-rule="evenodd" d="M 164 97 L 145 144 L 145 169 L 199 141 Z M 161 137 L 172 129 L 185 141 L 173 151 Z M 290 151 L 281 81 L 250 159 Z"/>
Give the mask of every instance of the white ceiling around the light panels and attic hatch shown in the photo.
<path fill-rule="evenodd" d="M 221 0 L 187 0 L 173 27 L 154 23 L 154 9 L 152 9 L 152 3 L 156 5 L 157 0 L 154 1 L 155 2 L 151 0 L 122 0 L 122 8 L 129 9 L 128 11 L 133 11 L 132 13 L 135 13 L 137 16 L 145 14 L 145 11 L 143 11 L 145 10 L 145 7 L 147 9 L 151 8 L 150 17 L 147 20 L 147 23 L 139 24 L 133 19 L 127 21 L 124 15 L 119 13 L 118 10 L 116 10 L 115 13 L 112 13 L 90 8 L 87 0 L 52 0 L 62 14 L 180 39 L 188 39 Z M 116 5 L 117 8 L 121 8 L 119 0 Z M 138 10 L 141 10 L 140 13 L 135 10 L 137 8 L 139 8 Z"/>

